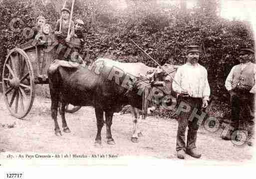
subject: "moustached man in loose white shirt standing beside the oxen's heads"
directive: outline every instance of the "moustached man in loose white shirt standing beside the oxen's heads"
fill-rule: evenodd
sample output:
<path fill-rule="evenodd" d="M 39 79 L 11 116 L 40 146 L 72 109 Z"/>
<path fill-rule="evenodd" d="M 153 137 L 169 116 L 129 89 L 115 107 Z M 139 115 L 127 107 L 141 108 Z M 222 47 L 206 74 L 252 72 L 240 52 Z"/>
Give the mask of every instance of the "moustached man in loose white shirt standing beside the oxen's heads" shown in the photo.
<path fill-rule="evenodd" d="M 208 106 L 210 86 L 207 79 L 207 70 L 198 63 L 199 46 L 188 46 L 188 62 L 178 68 L 173 81 L 173 90 L 177 93 L 178 106 L 181 102 L 190 106 L 189 112 L 181 112 L 178 115 L 178 132 L 176 151 L 179 159 L 185 158 L 185 151 L 192 157 L 200 158 L 196 150 L 197 131 L 199 129 L 198 116 L 202 114 L 202 108 Z M 197 116 L 191 116 L 197 109 Z M 185 132 L 188 127 L 187 146 L 185 144 Z"/>

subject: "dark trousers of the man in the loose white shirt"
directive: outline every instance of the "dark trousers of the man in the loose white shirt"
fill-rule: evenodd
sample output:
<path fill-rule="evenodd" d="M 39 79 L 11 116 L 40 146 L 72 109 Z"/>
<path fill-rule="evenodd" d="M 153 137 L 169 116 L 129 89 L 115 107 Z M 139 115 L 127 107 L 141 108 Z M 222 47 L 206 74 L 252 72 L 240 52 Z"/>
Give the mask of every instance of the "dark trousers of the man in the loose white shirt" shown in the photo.
<path fill-rule="evenodd" d="M 181 102 L 185 102 L 186 105 L 189 105 L 191 107 L 191 110 L 188 113 L 181 112 L 178 116 L 176 151 L 179 151 L 179 150 L 186 151 L 186 149 L 190 150 L 190 149 L 196 148 L 197 131 L 199 129 L 199 125 L 197 124 L 198 118 L 189 120 L 189 117 L 191 116 L 191 113 L 194 108 L 198 109 L 198 112 L 197 112 L 198 115 L 201 115 L 202 113 L 202 98 L 179 96 L 177 100 L 178 107 Z M 186 148 L 185 133 L 186 133 L 187 127 L 188 127 L 188 135 L 187 135 L 187 148 Z"/>

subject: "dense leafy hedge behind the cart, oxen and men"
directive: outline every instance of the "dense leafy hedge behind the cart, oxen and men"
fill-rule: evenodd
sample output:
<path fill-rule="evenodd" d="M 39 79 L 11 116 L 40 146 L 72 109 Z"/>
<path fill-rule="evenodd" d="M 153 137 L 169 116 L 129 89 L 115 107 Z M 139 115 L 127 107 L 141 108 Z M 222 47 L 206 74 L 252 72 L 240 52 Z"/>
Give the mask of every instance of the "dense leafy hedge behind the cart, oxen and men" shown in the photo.
<path fill-rule="evenodd" d="M 25 27 L 32 27 L 36 17 L 43 15 L 54 27 L 63 1 L 0 1 L 0 67 L 6 49 L 27 40 L 22 31 L 10 30 L 10 20 L 19 17 Z M 123 4 L 120 1 L 126 4 L 120 6 Z M 120 1 L 75 1 L 73 19 L 79 17 L 85 22 L 83 50 L 90 59 L 105 56 L 122 62 L 156 66 L 134 46 L 131 38 L 159 63 L 184 64 L 186 47 L 198 44 L 202 51 L 200 63 L 208 70 L 212 94 L 222 96 L 226 93 L 224 83 L 230 69 L 239 63 L 238 49 L 254 48 L 250 23 L 221 18 L 218 1 L 198 0 L 191 9 L 157 0 Z"/>

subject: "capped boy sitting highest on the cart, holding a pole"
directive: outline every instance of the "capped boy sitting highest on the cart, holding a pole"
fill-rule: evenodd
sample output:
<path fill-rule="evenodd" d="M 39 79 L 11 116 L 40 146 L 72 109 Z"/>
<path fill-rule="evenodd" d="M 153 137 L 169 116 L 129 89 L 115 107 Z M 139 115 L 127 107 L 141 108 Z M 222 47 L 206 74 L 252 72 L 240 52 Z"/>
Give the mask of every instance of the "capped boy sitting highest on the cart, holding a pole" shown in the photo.
<path fill-rule="evenodd" d="M 65 42 L 69 42 L 70 39 L 74 36 L 74 22 L 70 21 L 70 32 L 68 35 L 68 25 L 69 25 L 69 15 L 70 10 L 67 8 L 61 9 L 61 17 L 57 20 L 55 25 L 55 32 L 57 39 L 61 44 L 66 44 Z"/>

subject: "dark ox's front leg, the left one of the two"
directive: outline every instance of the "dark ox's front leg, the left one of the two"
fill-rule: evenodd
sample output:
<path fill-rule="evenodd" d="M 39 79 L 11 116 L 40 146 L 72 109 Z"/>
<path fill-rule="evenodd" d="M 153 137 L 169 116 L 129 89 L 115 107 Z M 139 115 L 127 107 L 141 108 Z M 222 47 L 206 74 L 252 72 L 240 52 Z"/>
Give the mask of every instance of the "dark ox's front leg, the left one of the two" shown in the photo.
<path fill-rule="evenodd" d="M 103 110 L 101 108 L 96 107 L 95 108 L 95 115 L 96 115 L 96 119 L 97 119 L 97 135 L 96 135 L 96 139 L 95 139 L 95 147 L 102 147 L 102 143 L 101 143 L 101 129 L 104 125 L 104 121 L 103 121 Z"/>

